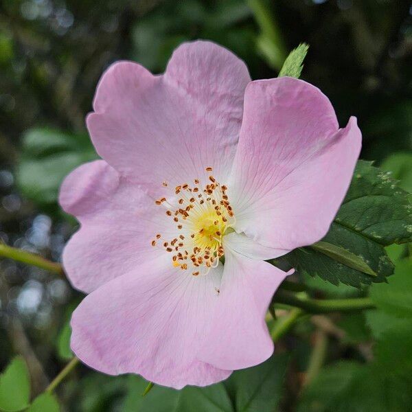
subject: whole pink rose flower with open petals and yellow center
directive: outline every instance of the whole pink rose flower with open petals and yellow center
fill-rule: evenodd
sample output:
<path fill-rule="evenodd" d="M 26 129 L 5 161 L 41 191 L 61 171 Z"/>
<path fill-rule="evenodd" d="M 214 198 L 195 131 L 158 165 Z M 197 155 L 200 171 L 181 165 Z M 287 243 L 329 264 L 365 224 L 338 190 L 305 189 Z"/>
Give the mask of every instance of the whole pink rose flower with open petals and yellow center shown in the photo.
<path fill-rule="evenodd" d="M 63 253 L 71 347 L 106 374 L 210 385 L 273 353 L 264 317 L 288 273 L 264 262 L 317 242 L 350 184 L 361 131 L 294 78 L 251 82 L 214 43 L 163 76 L 117 62 L 87 117 L 103 160 L 62 184 L 80 230 Z M 220 258 L 225 257 L 225 264 Z"/>

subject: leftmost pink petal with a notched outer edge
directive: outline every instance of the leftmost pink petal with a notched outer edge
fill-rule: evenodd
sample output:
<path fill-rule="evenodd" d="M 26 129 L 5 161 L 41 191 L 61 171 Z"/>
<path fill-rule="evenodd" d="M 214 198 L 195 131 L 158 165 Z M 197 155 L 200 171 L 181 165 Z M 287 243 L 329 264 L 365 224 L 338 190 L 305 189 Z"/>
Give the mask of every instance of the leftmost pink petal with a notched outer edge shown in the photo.
<path fill-rule="evenodd" d="M 174 233 L 164 211 L 102 160 L 67 176 L 60 205 L 82 223 L 63 251 L 63 266 L 71 284 L 86 293 L 156 260 L 164 251 L 151 240 L 159 231 Z"/>

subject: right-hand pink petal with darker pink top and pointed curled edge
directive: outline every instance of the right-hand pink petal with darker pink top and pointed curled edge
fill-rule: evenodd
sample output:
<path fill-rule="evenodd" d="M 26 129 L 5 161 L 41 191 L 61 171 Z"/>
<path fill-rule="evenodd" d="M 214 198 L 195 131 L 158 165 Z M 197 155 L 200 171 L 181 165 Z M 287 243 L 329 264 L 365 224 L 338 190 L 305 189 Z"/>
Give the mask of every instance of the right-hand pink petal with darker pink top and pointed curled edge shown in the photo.
<path fill-rule="evenodd" d="M 356 119 L 338 130 L 316 87 L 293 78 L 252 82 L 229 184 L 236 231 L 279 255 L 317 242 L 343 201 L 360 150 Z"/>

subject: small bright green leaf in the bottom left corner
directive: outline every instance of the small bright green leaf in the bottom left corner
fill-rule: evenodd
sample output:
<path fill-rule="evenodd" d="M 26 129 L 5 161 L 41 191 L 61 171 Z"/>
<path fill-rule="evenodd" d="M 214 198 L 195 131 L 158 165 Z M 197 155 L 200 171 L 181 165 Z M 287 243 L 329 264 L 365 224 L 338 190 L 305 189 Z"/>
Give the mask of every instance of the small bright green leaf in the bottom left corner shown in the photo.
<path fill-rule="evenodd" d="M 21 411 L 27 407 L 29 400 L 29 371 L 24 359 L 17 356 L 0 376 L 0 411 Z"/>

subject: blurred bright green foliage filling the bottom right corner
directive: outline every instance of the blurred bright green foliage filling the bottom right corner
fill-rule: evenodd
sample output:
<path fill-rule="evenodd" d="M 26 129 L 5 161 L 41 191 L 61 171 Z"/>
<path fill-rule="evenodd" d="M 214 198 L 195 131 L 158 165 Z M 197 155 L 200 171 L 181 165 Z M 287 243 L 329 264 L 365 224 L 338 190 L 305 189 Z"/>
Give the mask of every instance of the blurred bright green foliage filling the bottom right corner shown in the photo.
<path fill-rule="evenodd" d="M 298 411 L 410 410 L 412 261 L 408 258 L 396 263 L 396 273 L 389 278 L 389 284 L 371 288 L 378 309 L 367 312 L 367 323 L 352 316 L 345 319 L 346 325 L 339 324 L 352 340 L 354 330 L 355 340 L 367 342 L 369 334 L 376 338 L 374 360 L 367 364 L 338 361 L 325 367 L 304 390 Z"/>

